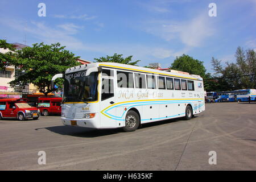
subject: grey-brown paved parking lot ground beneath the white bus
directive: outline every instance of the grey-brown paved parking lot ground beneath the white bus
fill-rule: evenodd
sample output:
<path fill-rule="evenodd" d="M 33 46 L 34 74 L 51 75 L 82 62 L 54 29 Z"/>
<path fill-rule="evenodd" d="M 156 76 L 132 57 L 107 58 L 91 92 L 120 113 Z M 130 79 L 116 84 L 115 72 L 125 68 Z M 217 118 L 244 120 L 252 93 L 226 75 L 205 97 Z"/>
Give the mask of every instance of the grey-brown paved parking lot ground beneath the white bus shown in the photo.
<path fill-rule="evenodd" d="M 131 133 L 63 126 L 58 116 L 1 120 L 0 138 L 0 170 L 256 170 L 256 102 L 206 104 L 189 121 Z M 38 164 L 39 151 L 46 165 Z"/>

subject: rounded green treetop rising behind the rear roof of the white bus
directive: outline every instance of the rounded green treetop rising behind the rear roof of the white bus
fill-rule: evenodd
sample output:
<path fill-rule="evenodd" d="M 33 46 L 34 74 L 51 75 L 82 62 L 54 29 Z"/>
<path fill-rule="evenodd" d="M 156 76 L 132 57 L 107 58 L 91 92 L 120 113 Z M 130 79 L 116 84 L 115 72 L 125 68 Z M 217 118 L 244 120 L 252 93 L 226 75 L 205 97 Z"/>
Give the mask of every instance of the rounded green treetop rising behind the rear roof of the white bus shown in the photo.
<path fill-rule="evenodd" d="M 183 54 L 182 56 L 176 57 L 170 68 L 188 72 L 193 75 L 200 75 L 204 78 L 206 69 L 203 63 L 203 61 L 193 59 L 193 57 Z"/>

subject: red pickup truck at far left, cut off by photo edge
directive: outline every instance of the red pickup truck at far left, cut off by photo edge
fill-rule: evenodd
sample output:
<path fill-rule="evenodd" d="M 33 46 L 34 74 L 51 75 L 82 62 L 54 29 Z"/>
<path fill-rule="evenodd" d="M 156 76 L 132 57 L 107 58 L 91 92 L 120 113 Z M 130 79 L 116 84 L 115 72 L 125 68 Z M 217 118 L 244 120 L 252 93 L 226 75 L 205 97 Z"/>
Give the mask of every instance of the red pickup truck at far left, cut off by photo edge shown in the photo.
<path fill-rule="evenodd" d="M 28 105 L 27 98 L 0 98 L 0 119 L 16 118 L 23 121 L 27 118 L 38 119 L 39 109 Z"/>

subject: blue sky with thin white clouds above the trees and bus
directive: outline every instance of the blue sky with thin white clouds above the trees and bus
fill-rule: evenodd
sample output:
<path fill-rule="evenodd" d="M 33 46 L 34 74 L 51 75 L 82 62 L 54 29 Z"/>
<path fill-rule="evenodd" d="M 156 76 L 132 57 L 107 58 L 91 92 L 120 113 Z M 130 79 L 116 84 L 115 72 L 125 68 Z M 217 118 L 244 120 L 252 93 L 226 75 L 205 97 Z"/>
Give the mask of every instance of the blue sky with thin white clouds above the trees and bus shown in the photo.
<path fill-rule="evenodd" d="M 210 17 L 209 3 L 217 16 Z M 46 4 L 46 17 L 38 4 Z M 94 61 L 114 53 L 139 65 L 167 68 L 183 53 L 204 61 L 235 61 L 238 46 L 256 50 L 255 0 L 0 1 L 0 39 L 26 44 L 60 42 Z"/>

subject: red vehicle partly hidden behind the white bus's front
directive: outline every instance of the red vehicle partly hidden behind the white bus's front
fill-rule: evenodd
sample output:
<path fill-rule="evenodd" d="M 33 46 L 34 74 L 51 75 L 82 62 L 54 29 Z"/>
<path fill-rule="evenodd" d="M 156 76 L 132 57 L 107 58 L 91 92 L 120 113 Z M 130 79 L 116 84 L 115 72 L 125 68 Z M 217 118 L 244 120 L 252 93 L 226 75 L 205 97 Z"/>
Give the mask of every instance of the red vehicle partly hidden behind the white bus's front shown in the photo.
<path fill-rule="evenodd" d="M 61 114 L 61 97 L 39 97 L 38 109 L 42 115 Z"/>

